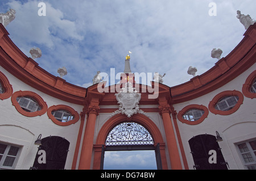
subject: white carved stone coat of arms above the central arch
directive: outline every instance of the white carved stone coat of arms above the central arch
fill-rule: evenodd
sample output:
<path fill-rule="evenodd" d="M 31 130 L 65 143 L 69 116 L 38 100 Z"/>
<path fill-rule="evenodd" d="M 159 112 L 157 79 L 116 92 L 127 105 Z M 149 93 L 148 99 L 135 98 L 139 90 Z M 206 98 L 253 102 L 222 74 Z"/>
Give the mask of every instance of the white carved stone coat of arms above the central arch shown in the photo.
<path fill-rule="evenodd" d="M 139 101 L 141 100 L 141 94 L 138 93 L 131 82 L 126 82 L 125 87 L 122 88 L 118 94 L 115 94 L 117 98 L 119 109 L 112 113 L 112 116 L 118 113 L 125 114 L 127 117 L 131 117 L 134 114 L 142 113 L 147 116 L 147 114 L 139 110 Z"/>

